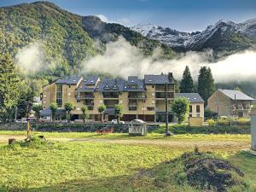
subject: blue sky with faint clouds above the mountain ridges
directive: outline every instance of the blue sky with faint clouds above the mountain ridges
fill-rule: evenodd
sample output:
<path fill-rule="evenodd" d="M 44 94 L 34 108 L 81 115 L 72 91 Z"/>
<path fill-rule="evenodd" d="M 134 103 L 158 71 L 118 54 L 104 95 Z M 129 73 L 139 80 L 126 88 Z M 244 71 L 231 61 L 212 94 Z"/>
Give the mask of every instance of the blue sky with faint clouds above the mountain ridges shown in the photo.
<path fill-rule="evenodd" d="M 0 6 L 35 0 L 0 0 Z M 49 0 L 78 15 L 98 15 L 125 26 L 151 23 L 183 32 L 204 30 L 218 20 L 256 18 L 256 0 Z"/>

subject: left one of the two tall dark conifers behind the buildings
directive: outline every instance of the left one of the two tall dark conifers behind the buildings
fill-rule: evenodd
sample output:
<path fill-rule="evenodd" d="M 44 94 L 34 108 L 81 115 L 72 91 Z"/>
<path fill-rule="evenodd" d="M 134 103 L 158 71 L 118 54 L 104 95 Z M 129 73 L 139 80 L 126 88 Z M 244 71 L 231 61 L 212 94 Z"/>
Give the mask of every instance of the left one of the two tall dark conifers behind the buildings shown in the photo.
<path fill-rule="evenodd" d="M 183 72 L 183 79 L 180 83 L 180 92 L 181 93 L 193 93 L 195 91 L 194 82 L 189 71 L 189 67 L 186 66 Z"/>

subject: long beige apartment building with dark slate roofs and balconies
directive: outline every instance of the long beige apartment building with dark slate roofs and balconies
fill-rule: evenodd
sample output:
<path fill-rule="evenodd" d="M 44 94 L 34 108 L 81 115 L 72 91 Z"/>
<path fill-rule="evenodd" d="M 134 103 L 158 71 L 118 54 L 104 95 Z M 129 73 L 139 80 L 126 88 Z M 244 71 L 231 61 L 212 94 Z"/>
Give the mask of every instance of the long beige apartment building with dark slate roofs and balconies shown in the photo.
<path fill-rule="evenodd" d="M 98 107 L 105 104 L 105 120 L 115 119 L 114 105 L 122 104 L 122 120 L 143 119 L 145 121 L 165 120 L 165 99 L 174 99 L 174 80 L 172 73 L 167 75 L 144 75 L 144 79 L 130 76 L 124 79 L 99 79 L 97 77 L 69 76 L 44 86 L 41 116 L 49 119 L 49 104 L 56 102 L 62 112 L 66 102 L 73 102 L 72 119 L 82 119 L 81 107 L 89 108 L 90 119 L 100 120 Z M 62 113 L 57 119 L 64 118 Z M 169 117 L 172 120 L 172 117 Z"/>

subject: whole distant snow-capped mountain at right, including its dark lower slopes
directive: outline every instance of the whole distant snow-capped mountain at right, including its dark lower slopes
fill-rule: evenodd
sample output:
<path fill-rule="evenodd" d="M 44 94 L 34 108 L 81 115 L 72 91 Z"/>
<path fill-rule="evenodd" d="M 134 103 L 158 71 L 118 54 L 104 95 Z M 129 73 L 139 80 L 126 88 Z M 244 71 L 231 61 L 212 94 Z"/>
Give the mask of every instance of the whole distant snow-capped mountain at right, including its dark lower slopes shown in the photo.
<path fill-rule="evenodd" d="M 239 51 L 254 48 L 256 44 L 256 19 L 239 24 L 219 20 L 202 32 L 179 32 L 152 24 L 139 24 L 131 29 L 177 50 Z"/>

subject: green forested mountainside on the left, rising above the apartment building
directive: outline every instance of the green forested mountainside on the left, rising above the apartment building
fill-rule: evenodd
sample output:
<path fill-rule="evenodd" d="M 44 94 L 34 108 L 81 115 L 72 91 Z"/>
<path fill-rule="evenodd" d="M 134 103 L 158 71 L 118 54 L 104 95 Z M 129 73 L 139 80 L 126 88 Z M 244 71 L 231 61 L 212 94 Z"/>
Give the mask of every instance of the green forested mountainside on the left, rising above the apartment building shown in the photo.
<path fill-rule="evenodd" d="M 145 55 L 151 55 L 157 47 L 165 50 L 166 57 L 176 55 L 169 46 L 128 27 L 104 23 L 95 16 L 75 15 L 54 3 L 22 3 L 0 8 L 1 53 L 9 52 L 15 58 L 20 49 L 37 43 L 44 50 L 44 62 L 55 66 L 44 72 L 47 75 L 79 73 L 81 61 L 101 54 L 105 44 L 120 35 Z M 95 46 L 98 42 L 100 46 Z"/>

